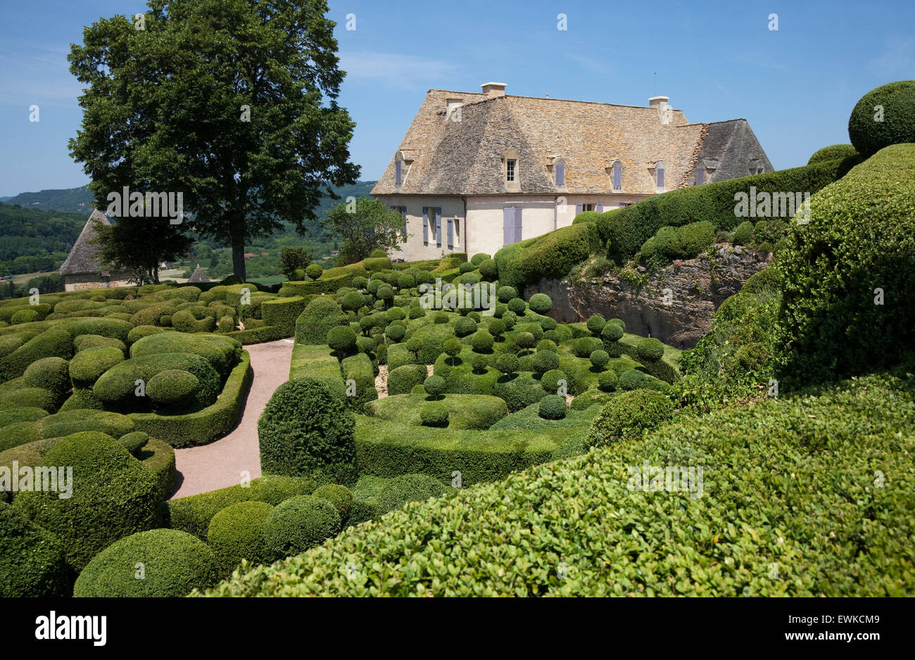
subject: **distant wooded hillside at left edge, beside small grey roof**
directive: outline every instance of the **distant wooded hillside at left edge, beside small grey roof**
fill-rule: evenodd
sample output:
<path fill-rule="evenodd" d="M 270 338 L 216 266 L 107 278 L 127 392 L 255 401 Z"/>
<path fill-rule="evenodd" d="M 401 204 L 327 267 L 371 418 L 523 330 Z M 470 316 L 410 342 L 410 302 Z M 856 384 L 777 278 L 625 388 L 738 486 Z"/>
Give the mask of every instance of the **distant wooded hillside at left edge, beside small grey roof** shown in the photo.
<path fill-rule="evenodd" d="M 86 218 L 82 213 L 0 203 L 0 275 L 59 268 Z"/>

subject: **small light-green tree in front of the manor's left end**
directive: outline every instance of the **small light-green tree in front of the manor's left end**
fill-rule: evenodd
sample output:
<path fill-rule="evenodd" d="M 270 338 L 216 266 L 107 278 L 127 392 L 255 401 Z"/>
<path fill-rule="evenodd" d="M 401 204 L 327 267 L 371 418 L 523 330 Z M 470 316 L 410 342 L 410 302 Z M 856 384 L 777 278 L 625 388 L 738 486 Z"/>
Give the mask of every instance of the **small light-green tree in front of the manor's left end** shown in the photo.
<path fill-rule="evenodd" d="M 322 226 L 343 240 L 339 264 L 355 263 L 373 250 L 400 250 L 404 237 L 404 218 L 374 197 L 350 197 L 331 208 Z"/>

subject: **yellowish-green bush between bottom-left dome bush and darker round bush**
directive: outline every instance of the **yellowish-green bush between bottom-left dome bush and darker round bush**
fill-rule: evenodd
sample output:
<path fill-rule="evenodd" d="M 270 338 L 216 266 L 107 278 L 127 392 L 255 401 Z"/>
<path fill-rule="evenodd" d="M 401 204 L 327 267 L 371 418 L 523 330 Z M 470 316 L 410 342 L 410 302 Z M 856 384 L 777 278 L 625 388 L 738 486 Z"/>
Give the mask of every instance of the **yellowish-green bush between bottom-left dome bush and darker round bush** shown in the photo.
<path fill-rule="evenodd" d="M 221 575 L 230 575 L 242 559 L 254 565 L 279 559 L 267 549 L 264 539 L 267 517 L 273 510 L 267 502 L 237 502 L 213 516 L 207 545 L 216 556 Z"/>

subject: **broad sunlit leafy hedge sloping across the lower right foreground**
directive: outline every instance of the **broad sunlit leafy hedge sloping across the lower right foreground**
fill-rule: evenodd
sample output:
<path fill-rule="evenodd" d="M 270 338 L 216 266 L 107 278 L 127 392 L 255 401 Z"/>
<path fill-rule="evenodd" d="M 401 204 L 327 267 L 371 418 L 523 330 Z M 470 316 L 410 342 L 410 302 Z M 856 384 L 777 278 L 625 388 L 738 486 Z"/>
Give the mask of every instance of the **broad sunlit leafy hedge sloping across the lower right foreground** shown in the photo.
<path fill-rule="evenodd" d="M 208 593 L 907 596 L 915 473 L 899 456 L 915 452 L 911 392 L 870 377 L 684 420 L 408 504 Z M 644 492 L 633 479 L 645 464 L 702 466 L 702 494 Z"/>

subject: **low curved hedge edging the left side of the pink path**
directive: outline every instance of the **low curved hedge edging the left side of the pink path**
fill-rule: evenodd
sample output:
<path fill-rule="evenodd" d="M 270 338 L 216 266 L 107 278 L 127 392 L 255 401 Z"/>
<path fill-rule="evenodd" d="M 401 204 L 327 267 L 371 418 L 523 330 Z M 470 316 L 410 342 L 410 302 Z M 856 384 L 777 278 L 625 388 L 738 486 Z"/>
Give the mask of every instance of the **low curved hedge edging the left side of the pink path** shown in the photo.
<path fill-rule="evenodd" d="M 251 357 L 244 351 L 239 363 L 226 378 L 220 398 L 212 405 L 183 414 L 132 412 L 129 417 L 134 420 L 137 431 L 145 431 L 172 447 L 207 444 L 234 428 L 242 414 L 242 403 L 251 388 L 252 379 Z"/>

